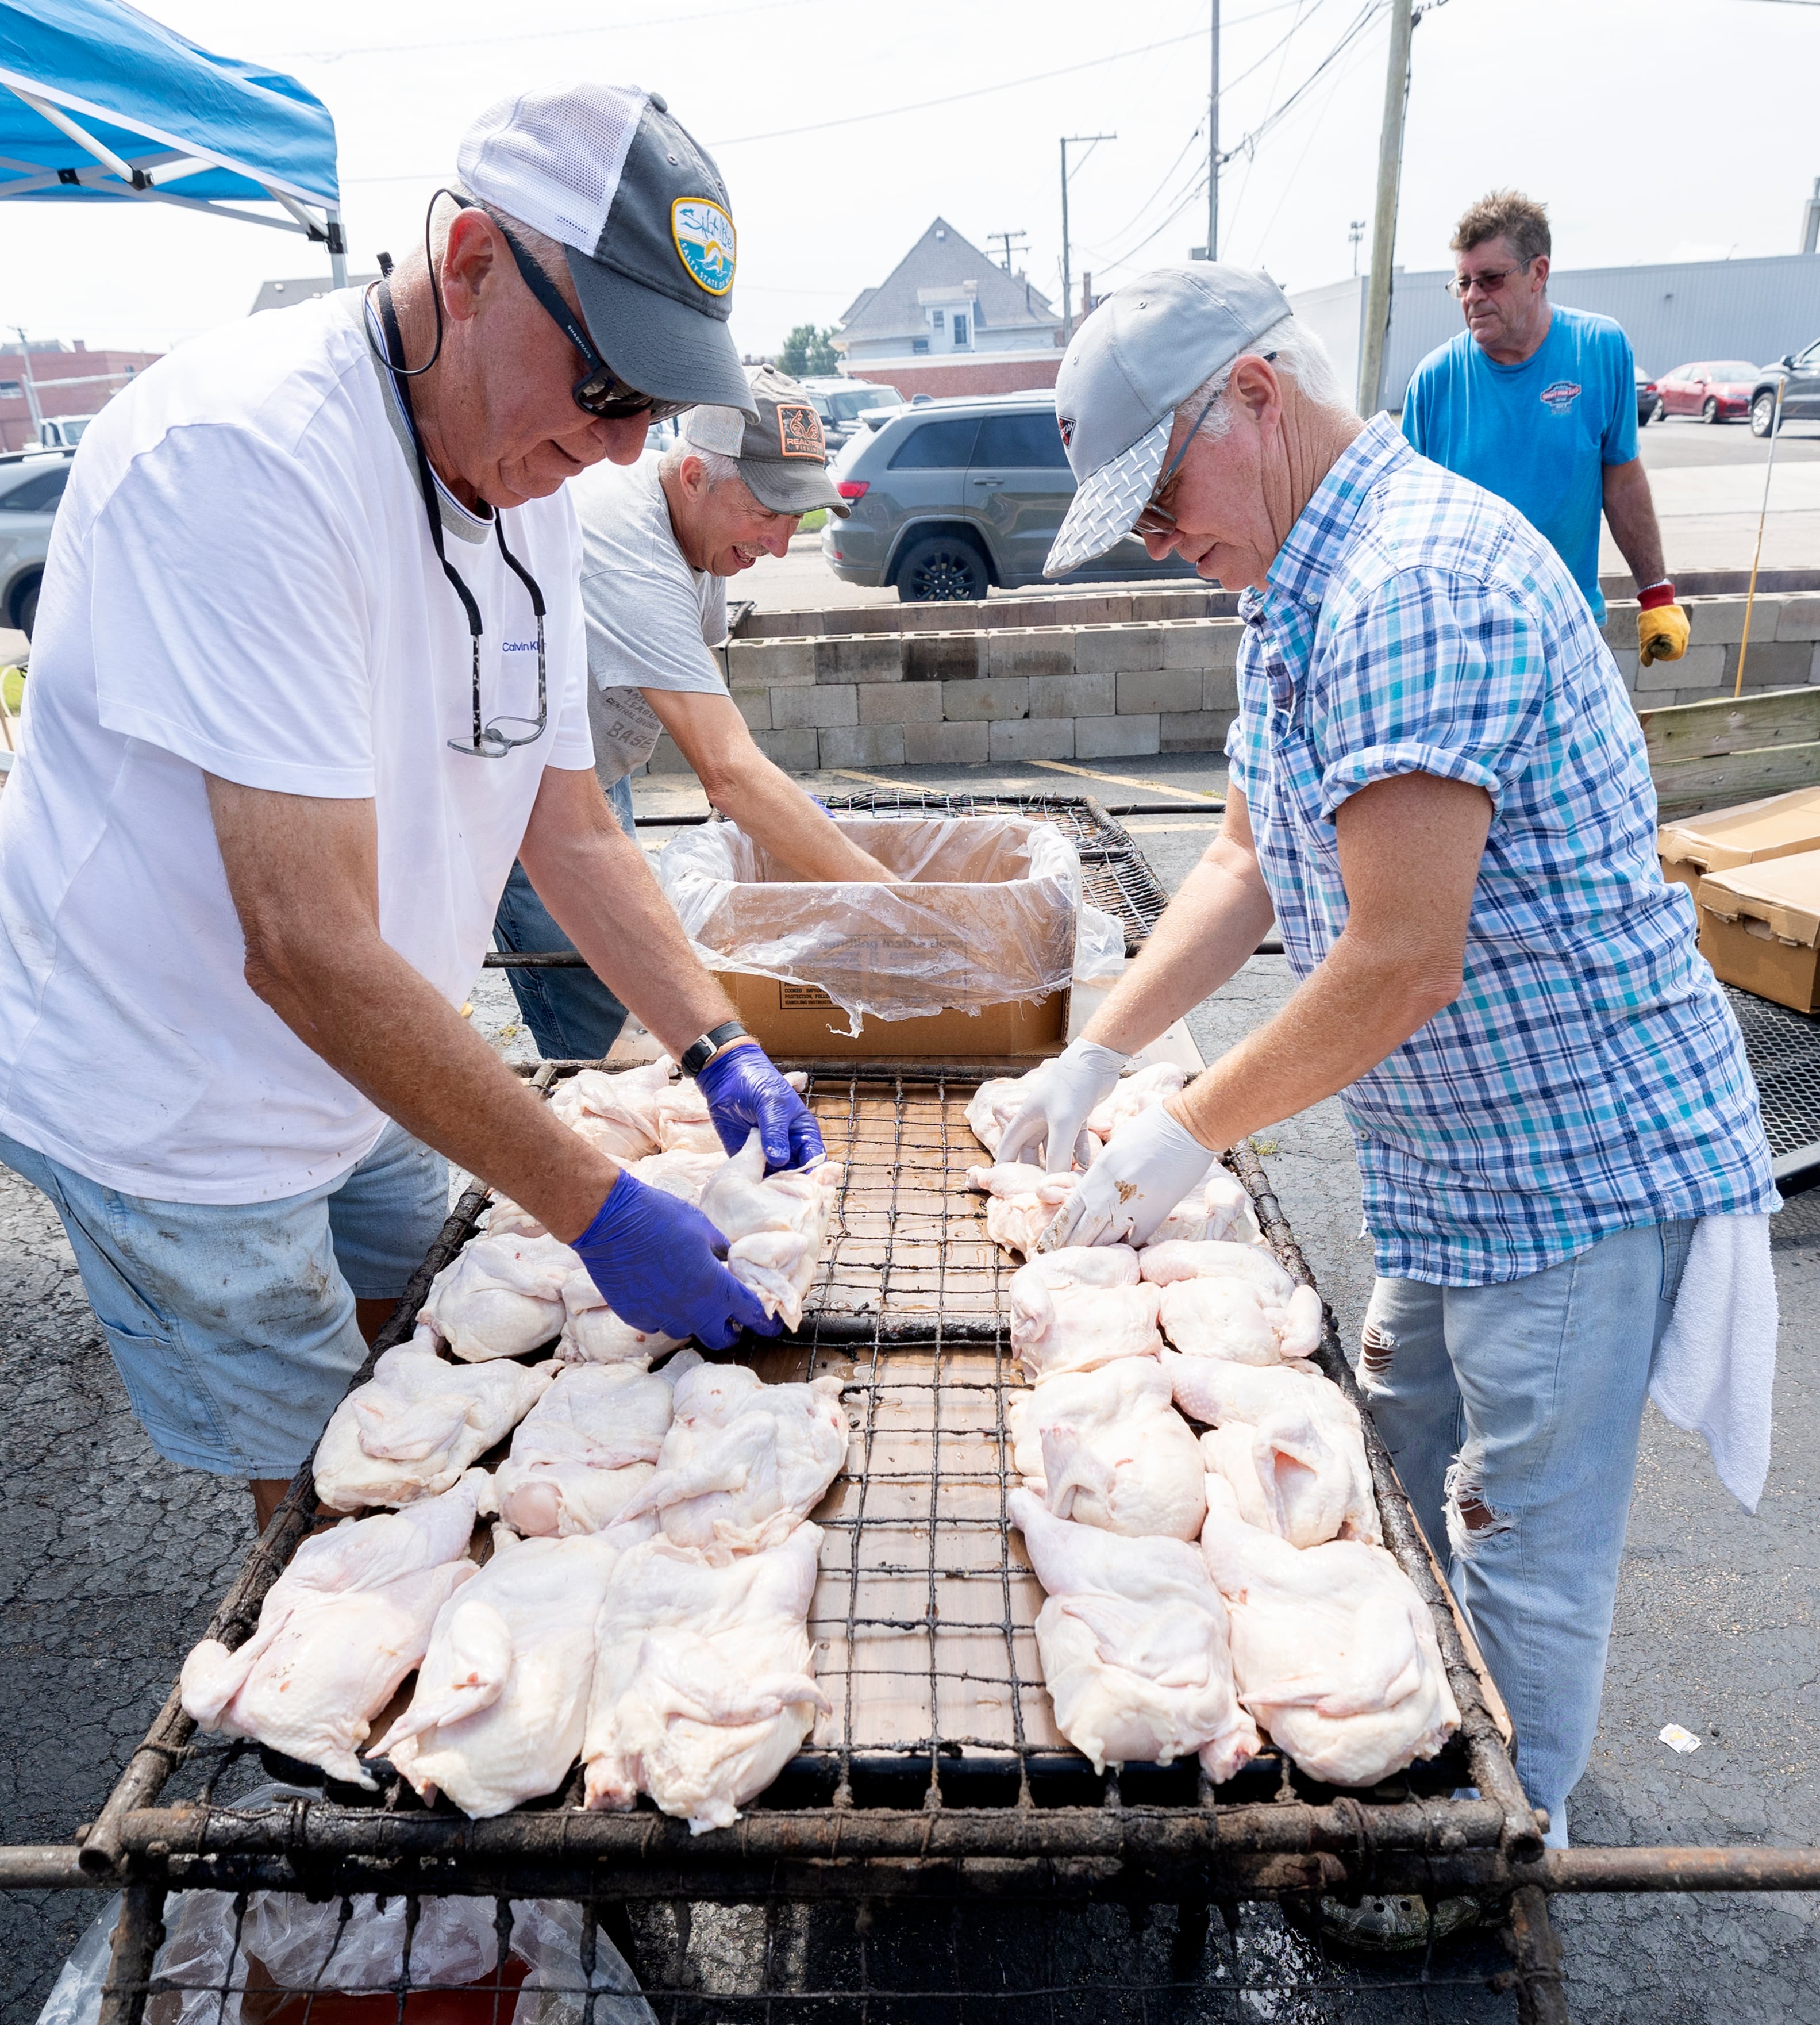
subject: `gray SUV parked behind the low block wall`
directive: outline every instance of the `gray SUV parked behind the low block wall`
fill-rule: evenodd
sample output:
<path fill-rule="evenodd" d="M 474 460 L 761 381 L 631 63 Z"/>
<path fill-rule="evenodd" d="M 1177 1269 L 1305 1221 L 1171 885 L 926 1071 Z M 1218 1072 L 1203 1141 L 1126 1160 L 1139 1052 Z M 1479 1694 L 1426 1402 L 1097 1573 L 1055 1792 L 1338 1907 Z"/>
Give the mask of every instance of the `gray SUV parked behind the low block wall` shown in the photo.
<path fill-rule="evenodd" d="M 907 407 L 848 441 L 832 478 L 852 518 L 828 518 L 822 559 L 844 583 L 895 583 L 905 601 L 1043 583 L 1075 496 L 1051 393 Z M 1126 537 L 1063 581 L 1192 575 L 1180 557 L 1152 563 Z"/>

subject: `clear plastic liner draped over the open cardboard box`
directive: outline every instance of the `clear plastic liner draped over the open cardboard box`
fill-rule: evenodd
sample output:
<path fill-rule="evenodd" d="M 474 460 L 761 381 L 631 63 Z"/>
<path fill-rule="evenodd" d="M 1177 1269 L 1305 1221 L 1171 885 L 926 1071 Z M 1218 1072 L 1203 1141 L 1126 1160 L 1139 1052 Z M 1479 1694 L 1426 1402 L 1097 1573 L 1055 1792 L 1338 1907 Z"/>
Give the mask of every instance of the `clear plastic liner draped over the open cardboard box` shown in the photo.
<path fill-rule="evenodd" d="M 737 824 L 670 842 L 658 879 L 711 970 L 818 984 L 858 1019 L 1043 998 L 1124 966 L 1124 929 L 1081 899 L 1081 859 L 1018 816 L 836 816 L 899 883 L 812 883 Z"/>

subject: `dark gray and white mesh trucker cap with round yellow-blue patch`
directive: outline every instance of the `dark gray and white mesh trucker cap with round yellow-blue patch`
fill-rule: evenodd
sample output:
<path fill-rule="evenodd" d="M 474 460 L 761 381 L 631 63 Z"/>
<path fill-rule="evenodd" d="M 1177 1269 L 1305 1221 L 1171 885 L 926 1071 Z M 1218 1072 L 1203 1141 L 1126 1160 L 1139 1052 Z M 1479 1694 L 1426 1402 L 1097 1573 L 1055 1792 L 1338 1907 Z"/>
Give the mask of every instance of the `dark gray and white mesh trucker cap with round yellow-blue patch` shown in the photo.
<path fill-rule="evenodd" d="M 727 328 L 727 184 L 654 91 L 520 91 L 468 128 L 456 168 L 470 196 L 563 243 L 587 334 L 628 385 L 753 411 Z"/>

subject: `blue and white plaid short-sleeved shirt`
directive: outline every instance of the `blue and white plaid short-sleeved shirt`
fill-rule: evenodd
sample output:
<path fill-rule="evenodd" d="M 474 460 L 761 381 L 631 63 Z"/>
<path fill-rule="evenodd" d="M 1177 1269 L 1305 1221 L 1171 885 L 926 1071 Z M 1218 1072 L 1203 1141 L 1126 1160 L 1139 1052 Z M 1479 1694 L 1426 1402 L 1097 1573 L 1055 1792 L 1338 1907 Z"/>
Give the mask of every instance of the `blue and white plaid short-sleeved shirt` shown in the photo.
<path fill-rule="evenodd" d="M 1342 1091 L 1379 1272 L 1482 1286 L 1773 1209 L 1737 1023 L 1656 863 L 1642 731 L 1553 547 L 1381 415 L 1239 610 L 1227 753 L 1298 976 L 1346 925 L 1348 796 L 1433 774 L 1492 800 L 1464 990 Z"/>

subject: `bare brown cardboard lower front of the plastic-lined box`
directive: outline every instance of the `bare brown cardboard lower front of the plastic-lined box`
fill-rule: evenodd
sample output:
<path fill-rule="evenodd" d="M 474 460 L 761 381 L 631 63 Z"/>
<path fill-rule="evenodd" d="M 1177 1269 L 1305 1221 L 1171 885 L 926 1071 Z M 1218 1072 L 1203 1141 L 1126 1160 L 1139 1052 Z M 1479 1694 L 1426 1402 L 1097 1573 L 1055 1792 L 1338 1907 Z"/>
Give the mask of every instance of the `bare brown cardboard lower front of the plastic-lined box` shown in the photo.
<path fill-rule="evenodd" d="M 814 984 L 759 978 L 749 970 L 717 970 L 715 982 L 733 1000 L 747 1033 L 767 1055 L 826 1061 L 996 1061 L 1024 1057 L 1035 1065 L 1059 1055 L 1069 1033 L 1069 994 L 1010 998 L 978 1012 L 925 1012 L 919 1019 L 875 1019 L 848 1035 L 846 1015 Z"/>

